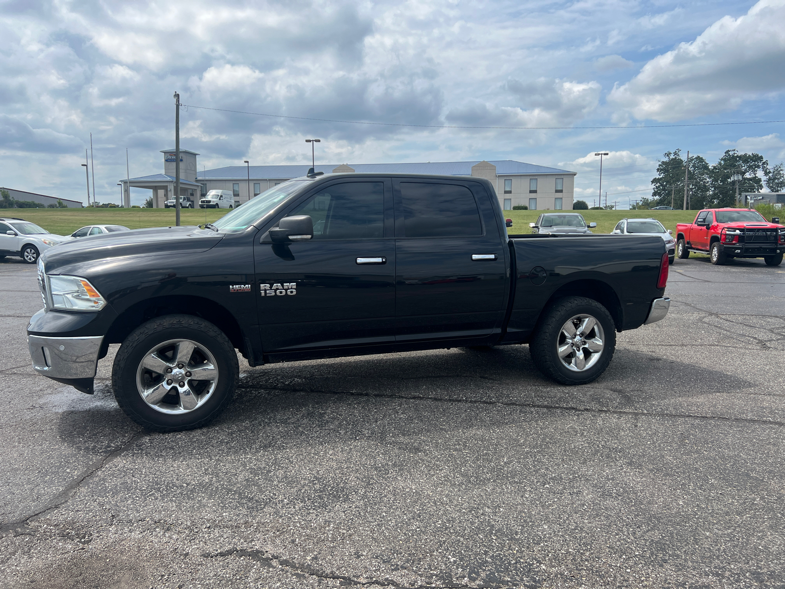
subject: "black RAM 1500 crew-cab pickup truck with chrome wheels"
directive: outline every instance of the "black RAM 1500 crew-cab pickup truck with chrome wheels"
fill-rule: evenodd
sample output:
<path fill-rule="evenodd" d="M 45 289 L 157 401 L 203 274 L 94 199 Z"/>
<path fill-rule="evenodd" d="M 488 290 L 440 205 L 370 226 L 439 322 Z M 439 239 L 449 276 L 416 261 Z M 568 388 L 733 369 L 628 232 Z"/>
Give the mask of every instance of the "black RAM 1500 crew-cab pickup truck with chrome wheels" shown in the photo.
<path fill-rule="evenodd" d="M 331 174 L 284 182 L 213 225 L 139 229 L 53 247 L 33 366 L 112 388 L 151 430 L 203 426 L 250 366 L 528 344 L 565 385 L 600 376 L 615 332 L 662 319 L 659 237 L 508 236 L 491 182 Z"/>

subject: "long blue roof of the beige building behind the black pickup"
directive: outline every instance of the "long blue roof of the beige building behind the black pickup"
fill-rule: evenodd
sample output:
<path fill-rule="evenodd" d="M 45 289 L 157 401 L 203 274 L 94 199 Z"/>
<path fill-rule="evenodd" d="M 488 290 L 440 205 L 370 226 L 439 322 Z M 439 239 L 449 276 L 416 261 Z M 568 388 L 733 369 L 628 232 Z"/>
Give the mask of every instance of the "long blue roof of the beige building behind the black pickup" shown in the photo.
<path fill-rule="evenodd" d="M 347 164 L 358 174 L 443 174 L 447 176 L 471 176 L 472 166 L 480 163 L 473 162 L 427 162 L 427 163 L 349 163 Z M 547 166 L 537 166 L 533 163 L 516 162 L 513 159 L 501 159 L 489 162 L 496 166 L 498 176 L 514 176 L 516 174 L 575 174 L 569 170 L 560 170 Z M 331 174 L 340 164 L 323 164 L 316 166 L 317 172 Z M 294 166 L 226 166 L 215 170 L 198 172 L 197 180 L 210 179 L 245 179 L 252 178 L 296 178 L 305 176 L 309 169 L 308 164 Z M 162 174 L 159 174 L 162 175 Z"/>

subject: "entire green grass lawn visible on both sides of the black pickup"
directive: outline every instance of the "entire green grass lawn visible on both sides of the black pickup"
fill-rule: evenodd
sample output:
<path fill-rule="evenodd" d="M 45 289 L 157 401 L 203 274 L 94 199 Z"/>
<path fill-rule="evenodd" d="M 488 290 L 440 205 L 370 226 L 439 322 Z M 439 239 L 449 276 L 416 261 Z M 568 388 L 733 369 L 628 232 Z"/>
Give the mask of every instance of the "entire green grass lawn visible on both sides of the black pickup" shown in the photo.
<path fill-rule="evenodd" d="M 183 209 L 180 212 L 181 225 L 199 225 L 223 217 L 228 209 Z M 543 210 L 506 210 L 505 218 L 513 220 L 509 233 L 528 233 L 529 223 L 537 220 L 539 214 L 555 211 Z M 572 211 L 564 211 L 572 212 Z M 696 210 L 578 210 L 587 223 L 597 223 L 595 233 L 610 233 L 619 219 L 633 217 L 653 217 L 665 229 L 676 232 L 676 224 L 691 222 Z M 125 225 L 129 229 L 144 227 L 166 227 L 174 225 L 174 209 L 0 209 L 0 217 L 19 217 L 42 226 L 58 235 L 71 235 L 85 225 Z"/>

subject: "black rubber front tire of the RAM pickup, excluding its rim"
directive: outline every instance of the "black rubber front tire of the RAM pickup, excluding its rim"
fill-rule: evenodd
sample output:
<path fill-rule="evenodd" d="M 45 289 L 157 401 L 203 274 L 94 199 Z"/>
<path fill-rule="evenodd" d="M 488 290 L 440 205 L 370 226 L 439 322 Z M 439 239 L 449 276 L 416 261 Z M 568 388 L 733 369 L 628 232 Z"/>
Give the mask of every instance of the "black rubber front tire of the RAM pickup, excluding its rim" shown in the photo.
<path fill-rule="evenodd" d="M 218 371 L 215 387 L 206 401 L 192 411 L 180 414 L 159 412 L 144 401 L 137 389 L 137 370 L 155 346 L 178 338 L 196 342 L 212 354 Z M 192 315 L 156 317 L 137 327 L 122 342 L 111 372 L 111 386 L 120 408 L 140 426 L 158 432 L 206 426 L 232 401 L 238 379 L 239 366 L 232 342 L 214 324 Z"/>

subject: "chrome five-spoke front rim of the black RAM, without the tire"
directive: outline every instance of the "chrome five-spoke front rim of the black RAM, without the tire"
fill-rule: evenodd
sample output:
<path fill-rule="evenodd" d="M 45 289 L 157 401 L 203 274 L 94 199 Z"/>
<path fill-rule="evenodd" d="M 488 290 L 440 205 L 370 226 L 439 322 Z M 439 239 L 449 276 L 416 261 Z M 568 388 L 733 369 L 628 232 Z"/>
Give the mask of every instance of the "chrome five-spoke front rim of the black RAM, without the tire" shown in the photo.
<path fill-rule="evenodd" d="M 206 403 L 218 383 L 210 350 L 190 339 L 170 339 L 144 354 L 137 368 L 137 390 L 155 411 L 192 412 Z"/>

